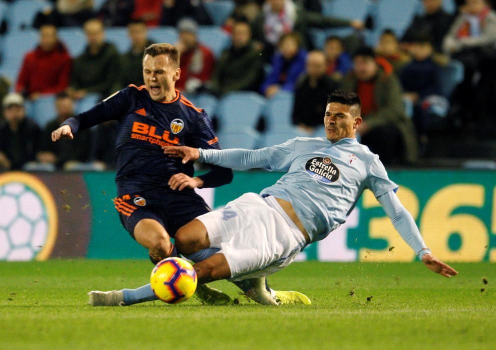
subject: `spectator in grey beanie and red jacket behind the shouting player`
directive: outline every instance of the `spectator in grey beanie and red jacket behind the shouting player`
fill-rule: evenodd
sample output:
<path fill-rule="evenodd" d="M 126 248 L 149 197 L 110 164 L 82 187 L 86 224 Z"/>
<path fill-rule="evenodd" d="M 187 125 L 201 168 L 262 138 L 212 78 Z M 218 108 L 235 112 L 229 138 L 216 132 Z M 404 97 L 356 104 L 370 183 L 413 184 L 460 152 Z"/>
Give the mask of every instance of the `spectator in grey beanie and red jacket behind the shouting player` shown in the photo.
<path fill-rule="evenodd" d="M 194 20 L 181 20 L 178 31 L 181 77 L 176 81 L 176 87 L 194 93 L 210 80 L 215 64 L 214 55 L 210 48 L 198 41 L 198 24 Z"/>

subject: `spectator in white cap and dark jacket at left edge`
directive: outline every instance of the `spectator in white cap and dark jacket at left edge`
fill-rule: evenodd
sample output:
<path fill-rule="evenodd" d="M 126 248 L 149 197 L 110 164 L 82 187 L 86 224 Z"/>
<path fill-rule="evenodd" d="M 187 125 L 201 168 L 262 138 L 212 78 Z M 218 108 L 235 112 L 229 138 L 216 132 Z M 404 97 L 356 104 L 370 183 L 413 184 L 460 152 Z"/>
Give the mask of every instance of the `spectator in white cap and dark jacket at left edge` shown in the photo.
<path fill-rule="evenodd" d="M 26 117 L 21 94 L 9 93 L 2 105 L 5 120 L 0 123 L 0 170 L 18 170 L 35 159 L 41 131 Z"/>

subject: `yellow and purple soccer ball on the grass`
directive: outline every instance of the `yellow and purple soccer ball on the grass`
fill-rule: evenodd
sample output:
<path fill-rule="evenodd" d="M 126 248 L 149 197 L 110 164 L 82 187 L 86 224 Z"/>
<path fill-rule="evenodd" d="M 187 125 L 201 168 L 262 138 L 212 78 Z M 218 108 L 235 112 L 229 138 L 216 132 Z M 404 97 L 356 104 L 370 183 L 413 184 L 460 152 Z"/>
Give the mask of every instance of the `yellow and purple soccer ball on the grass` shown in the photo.
<path fill-rule="evenodd" d="M 169 304 L 188 300 L 196 290 L 196 271 L 180 257 L 168 257 L 155 265 L 150 276 L 153 292 Z"/>

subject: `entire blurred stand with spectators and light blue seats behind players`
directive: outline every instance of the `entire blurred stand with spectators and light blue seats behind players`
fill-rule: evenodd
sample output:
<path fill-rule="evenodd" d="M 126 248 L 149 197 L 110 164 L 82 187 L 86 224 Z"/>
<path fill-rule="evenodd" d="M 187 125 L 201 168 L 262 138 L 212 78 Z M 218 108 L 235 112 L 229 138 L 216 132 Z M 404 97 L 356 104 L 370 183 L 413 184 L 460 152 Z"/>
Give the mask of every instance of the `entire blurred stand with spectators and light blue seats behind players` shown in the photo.
<path fill-rule="evenodd" d="M 323 136 L 326 96 L 362 101 L 386 165 L 494 168 L 496 1 L 0 1 L 0 171 L 115 166 L 114 122 L 53 143 L 66 118 L 143 84 L 143 49 L 181 52 L 177 88 L 224 148 Z"/>

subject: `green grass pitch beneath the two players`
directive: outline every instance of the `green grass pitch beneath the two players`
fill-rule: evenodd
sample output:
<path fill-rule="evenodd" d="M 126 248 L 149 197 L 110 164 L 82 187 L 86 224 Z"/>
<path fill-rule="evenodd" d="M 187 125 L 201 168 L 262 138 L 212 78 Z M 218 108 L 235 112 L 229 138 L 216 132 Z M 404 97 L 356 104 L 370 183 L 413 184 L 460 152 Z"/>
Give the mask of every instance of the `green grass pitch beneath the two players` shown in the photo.
<path fill-rule="evenodd" d="M 203 306 L 192 298 L 92 307 L 87 291 L 139 286 L 151 264 L 1 262 L 0 348 L 496 348 L 495 266 L 453 266 L 460 274 L 447 279 L 420 262 L 297 262 L 269 277 L 275 288 L 307 294 L 311 306 L 258 305 L 220 281 L 214 285 L 240 304 Z"/>

